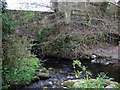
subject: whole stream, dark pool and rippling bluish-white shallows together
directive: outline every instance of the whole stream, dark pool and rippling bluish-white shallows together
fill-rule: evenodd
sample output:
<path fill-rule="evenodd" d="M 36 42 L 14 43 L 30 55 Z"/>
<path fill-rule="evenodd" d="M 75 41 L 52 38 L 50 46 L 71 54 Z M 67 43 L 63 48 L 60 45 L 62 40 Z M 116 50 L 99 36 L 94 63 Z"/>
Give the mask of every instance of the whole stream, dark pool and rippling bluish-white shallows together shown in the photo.
<path fill-rule="evenodd" d="M 91 64 L 90 61 L 83 60 L 81 61 L 82 65 L 87 66 L 87 70 L 93 74 L 93 78 L 97 77 L 100 72 L 107 73 L 107 76 L 114 78 L 115 81 L 120 83 L 120 66 L 108 65 L 103 66 L 99 64 Z M 43 88 L 43 87 L 52 87 L 52 88 L 63 88 L 62 83 L 68 79 L 74 79 L 74 70 L 72 67 L 72 60 L 66 59 L 57 59 L 57 58 L 46 58 L 44 59 L 44 67 L 53 68 L 53 72 L 49 72 L 52 76 L 47 80 L 39 80 L 27 86 L 27 88 Z M 81 76 L 84 77 L 84 73 Z"/>

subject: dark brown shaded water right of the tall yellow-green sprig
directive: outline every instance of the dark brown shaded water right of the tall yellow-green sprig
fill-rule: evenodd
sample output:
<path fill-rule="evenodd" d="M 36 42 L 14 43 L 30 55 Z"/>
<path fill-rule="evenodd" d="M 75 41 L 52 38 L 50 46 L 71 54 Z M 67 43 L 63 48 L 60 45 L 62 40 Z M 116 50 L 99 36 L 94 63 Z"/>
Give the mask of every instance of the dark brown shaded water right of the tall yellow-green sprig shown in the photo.
<path fill-rule="evenodd" d="M 93 74 L 93 77 L 97 77 L 98 74 L 104 72 L 108 77 L 114 78 L 115 81 L 120 83 L 120 65 L 100 65 L 100 64 L 91 64 L 89 62 L 82 62 L 83 65 L 88 67 L 88 71 Z"/>

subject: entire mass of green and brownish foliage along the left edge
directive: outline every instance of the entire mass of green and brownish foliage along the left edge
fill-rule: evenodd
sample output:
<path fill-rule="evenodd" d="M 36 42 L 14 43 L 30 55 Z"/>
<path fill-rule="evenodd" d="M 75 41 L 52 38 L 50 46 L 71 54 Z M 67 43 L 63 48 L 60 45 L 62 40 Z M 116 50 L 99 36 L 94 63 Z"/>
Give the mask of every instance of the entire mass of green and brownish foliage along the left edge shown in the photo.
<path fill-rule="evenodd" d="M 13 18 L 18 14 L 11 14 L 10 11 L 5 10 L 2 14 L 2 31 L 3 31 L 3 88 L 7 88 L 12 84 L 29 84 L 36 74 L 36 69 L 41 67 L 41 62 L 35 55 L 32 55 L 29 49 L 32 44 L 27 37 L 19 37 L 13 34 L 17 25 Z M 19 17 L 19 16 L 18 16 Z M 30 20 L 34 17 L 34 13 L 25 12 L 20 16 L 25 20 Z M 25 20 L 20 22 L 24 23 Z M 17 22 L 18 23 L 18 22 Z"/>

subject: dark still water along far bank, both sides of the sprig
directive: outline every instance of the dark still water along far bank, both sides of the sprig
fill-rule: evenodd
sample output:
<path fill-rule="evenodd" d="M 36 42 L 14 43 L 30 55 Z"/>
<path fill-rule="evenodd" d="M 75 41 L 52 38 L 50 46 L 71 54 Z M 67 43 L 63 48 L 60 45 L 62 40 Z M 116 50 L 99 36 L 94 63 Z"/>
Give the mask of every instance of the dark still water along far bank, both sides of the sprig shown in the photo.
<path fill-rule="evenodd" d="M 64 60 L 64 59 L 54 59 L 48 58 L 45 59 L 44 66 L 46 68 L 55 68 L 61 69 L 63 71 L 68 71 L 68 73 L 74 73 L 72 67 L 73 60 Z M 115 81 L 120 82 L 120 65 L 100 65 L 92 64 L 90 61 L 81 60 L 82 65 L 87 67 L 87 70 L 93 74 L 93 77 L 97 77 L 100 72 L 107 73 L 107 76 L 114 78 Z"/>

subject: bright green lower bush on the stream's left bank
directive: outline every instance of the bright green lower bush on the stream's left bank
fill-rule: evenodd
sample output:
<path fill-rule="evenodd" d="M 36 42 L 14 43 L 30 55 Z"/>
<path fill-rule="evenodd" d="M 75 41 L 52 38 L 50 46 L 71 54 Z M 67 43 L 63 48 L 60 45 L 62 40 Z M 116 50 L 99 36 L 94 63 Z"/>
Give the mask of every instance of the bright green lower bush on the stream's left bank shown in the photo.
<path fill-rule="evenodd" d="M 6 77 L 6 81 L 9 84 L 14 83 L 27 83 L 33 79 L 33 74 L 36 73 L 36 69 L 38 69 L 39 59 L 37 58 L 19 58 L 16 59 L 19 62 L 19 65 L 14 67 L 11 70 L 7 68 L 3 68 L 3 75 Z M 22 62 L 21 62 L 22 61 Z"/>

